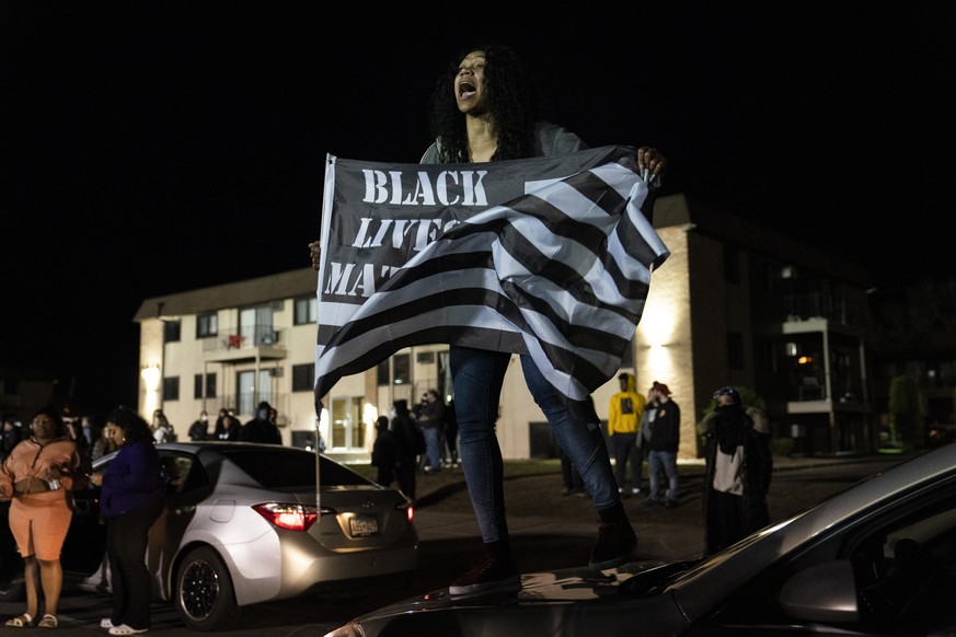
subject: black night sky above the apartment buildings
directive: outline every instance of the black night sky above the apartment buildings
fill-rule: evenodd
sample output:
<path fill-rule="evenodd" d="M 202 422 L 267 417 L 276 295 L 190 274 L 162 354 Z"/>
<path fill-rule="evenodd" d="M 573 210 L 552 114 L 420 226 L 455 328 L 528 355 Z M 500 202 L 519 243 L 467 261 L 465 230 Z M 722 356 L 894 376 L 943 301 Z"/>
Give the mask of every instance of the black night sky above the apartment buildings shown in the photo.
<path fill-rule="evenodd" d="M 956 3 L 620 5 L 0 4 L 0 368 L 135 403 L 141 301 L 308 267 L 326 153 L 417 162 L 436 79 L 482 42 L 590 146 L 660 149 L 663 195 L 877 287 L 953 276 Z"/>

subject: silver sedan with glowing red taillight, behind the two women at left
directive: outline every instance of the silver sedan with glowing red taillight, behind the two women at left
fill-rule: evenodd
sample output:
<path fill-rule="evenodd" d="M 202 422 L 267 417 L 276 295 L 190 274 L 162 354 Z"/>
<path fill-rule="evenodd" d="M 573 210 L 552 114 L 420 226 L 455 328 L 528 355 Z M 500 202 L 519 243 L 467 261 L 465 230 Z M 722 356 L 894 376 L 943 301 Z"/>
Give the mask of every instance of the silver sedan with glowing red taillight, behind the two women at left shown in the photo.
<path fill-rule="evenodd" d="M 418 567 L 411 501 L 325 455 L 244 442 L 157 448 L 168 494 L 150 529 L 147 563 L 154 597 L 172 602 L 189 628 L 222 628 L 238 606 L 400 586 Z M 114 455 L 96 461 L 93 471 L 106 468 Z M 68 583 L 105 591 L 106 528 L 99 491 L 74 491 L 62 564 Z M 2 509 L 3 526 L 8 509 Z M 4 540 L 0 600 L 23 594 L 21 572 L 15 546 Z"/>

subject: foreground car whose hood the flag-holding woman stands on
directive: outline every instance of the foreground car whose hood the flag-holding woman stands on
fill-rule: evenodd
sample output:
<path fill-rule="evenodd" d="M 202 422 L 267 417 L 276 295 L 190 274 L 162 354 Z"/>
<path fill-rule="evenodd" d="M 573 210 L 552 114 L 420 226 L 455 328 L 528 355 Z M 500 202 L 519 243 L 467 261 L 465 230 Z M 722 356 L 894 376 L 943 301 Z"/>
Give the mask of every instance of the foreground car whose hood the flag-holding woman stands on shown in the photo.
<path fill-rule="evenodd" d="M 688 561 L 526 574 L 447 589 L 326 637 L 956 634 L 956 444 L 924 452 Z"/>

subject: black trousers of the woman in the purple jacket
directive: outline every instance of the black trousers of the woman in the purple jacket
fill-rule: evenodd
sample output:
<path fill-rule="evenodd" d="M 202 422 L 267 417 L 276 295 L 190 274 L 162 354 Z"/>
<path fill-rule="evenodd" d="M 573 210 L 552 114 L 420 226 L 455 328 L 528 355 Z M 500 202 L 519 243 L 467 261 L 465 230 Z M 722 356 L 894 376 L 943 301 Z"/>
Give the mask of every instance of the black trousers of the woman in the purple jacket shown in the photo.
<path fill-rule="evenodd" d="M 106 528 L 110 588 L 113 590 L 114 626 L 150 628 L 152 582 L 146 567 L 149 528 L 162 512 L 162 499 L 111 518 Z"/>

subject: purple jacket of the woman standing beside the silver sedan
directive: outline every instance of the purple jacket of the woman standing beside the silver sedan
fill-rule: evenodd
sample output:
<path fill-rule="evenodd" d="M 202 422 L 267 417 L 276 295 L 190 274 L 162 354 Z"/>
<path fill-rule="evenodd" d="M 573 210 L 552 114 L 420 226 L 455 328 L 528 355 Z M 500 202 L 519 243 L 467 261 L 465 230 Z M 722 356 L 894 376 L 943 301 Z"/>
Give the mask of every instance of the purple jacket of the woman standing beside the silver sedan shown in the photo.
<path fill-rule="evenodd" d="M 100 514 L 116 518 L 162 499 L 164 491 L 159 453 L 152 439 L 125 444 L 103 475 Z"/>

